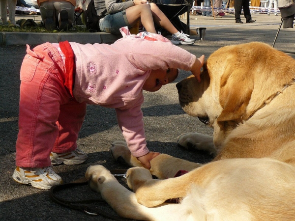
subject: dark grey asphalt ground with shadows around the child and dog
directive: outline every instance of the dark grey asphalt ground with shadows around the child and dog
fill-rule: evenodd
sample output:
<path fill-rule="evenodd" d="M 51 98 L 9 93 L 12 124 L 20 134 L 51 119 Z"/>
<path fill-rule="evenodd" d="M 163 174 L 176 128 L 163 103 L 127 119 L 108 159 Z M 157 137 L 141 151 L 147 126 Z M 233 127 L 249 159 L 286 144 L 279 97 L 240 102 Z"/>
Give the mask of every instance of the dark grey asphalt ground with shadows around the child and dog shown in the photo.
<path fill-rule="evenodd" d="M 226 45 L 265 42 L 272 45 L 277 33 L 280 16 L 253 14 L 253 24 L 236 24 L 234 15 L 223 18 L 191 16 L 191 28 L 206 27 L 205 40 L 199 36 L 191 46 L 179 46 L 197 56 L 208 57 L 218 48 Z M 244 22 L 245 20 L 242 19 Z M 78 39 L 79 41 L 79 39 Z M 33 47 L 33 45 L 31 45 Z M 275 48 L 295 52 L 294 29 L 281 29 Z M 81 211 L 62 207 L 49 198 L 49 191 L 20 185 L 13 181 L 15 169 L 15 142 L 18 133 L 19 72 L 26 54 L 25 45 L 0 46 L 0 220 L 1 221 L 105 221 L 100 216 L 90 216 Z M 293 54 L 290 54 L 293 56 Z M 177 146 L 177 136 L 185 132 L 212 134 L 212 129 L 203 125 L 197 118 L 184 113 L 178 104 L 175 84 L 189 76 L 181 71 L 177 81 L 164 86 L 154 93 L 145 92 L 142 106 L 148 148 L 151 151 L 199 163 L 206 163 L 211 157 L 204 152 L 190 152 Z M 90 165 L 103 165 L 108 169 L 127 168 L 114 162 L 109 147 L 114 140 L 123 140 L 117 125 L 115 111 L 99 106 L 88 106 L 87 115 L 78 138 L 78 146 L 89 158 L 77 166 L 59 165 L 54 170 L 64 182 L 71 182 L 84 176 Z M 44 140 L 46 142 L 46 140 Z M 169 166 L 169 165 L 168 165 Z M 121 181 L 124 184 L 124 181 Z M 60 194 L 69 200 L 100 197 L 83 186 Z M 98 205 L 104 211 L 114 213 L 108 206 Z"/>

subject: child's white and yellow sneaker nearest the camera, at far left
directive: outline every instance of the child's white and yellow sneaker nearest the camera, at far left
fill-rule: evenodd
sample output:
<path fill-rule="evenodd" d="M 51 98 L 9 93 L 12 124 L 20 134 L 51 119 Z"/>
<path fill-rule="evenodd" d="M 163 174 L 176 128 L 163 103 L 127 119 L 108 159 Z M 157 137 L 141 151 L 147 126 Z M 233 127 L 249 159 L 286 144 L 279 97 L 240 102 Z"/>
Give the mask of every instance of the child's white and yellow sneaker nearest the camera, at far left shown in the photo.
<path fill-rule="evenodd" d="M 30 184 L 38 189 L 48 190 L 55 185 L 62 184 L 61 177 L 51 166 L 42 168 L 24 168 L 17 166 L 12 178 L 21 184 Z"/>

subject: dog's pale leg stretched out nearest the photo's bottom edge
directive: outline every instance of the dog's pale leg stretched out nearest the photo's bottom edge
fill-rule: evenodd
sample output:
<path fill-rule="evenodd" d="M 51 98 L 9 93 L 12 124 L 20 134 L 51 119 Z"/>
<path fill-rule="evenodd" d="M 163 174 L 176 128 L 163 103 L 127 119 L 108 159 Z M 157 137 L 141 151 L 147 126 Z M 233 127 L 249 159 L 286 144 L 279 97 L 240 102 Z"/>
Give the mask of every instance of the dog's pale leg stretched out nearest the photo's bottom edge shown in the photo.
<path fill-rule="evenodd" d="M 145 179 L 145 176 L 150 178 L 148 170 L 145 170 L 147 173 L 142 178 Z M 121 217 L 145 221 L 192 220 L 191 210 L 187 209 L 186 205 L 163 203 L 159 207 L 148 208 L 139 204 L 135 193 L 120 185 L 117 179 L 103 166 L 89 166 L 85 176 L 91 189 L 101 193 L 101 196 Z M 194 211 L 196 210 L 194 209 Z"/>

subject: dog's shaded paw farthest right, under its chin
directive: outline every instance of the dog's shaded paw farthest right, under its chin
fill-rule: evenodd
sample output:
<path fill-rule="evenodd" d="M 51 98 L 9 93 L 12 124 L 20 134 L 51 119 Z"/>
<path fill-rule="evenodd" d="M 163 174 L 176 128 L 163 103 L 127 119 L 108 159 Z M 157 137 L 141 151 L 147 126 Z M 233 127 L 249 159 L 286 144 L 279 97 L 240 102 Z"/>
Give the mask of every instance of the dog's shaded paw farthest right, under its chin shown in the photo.
<path fill-rule="evenodd" d="M 184 133 L 177 138 L 179 146 L 186 150 L 203 150 L 216 155 L 213 137 L 200 133 Z"/>

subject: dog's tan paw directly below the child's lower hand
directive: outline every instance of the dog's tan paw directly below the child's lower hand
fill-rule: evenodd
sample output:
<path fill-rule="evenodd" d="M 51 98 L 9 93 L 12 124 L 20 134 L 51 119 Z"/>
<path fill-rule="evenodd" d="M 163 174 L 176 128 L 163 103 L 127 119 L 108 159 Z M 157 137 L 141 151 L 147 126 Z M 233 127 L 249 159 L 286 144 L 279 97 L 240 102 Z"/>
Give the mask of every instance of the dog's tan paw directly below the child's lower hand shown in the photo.
<path fill-rule="evenodd" d="M 152 179 L 148 169 L 144 167 L 132 167 L 127 170 L 126 181 L 128 187 L 136 192 L 143 184 Z"/>

